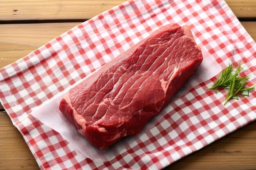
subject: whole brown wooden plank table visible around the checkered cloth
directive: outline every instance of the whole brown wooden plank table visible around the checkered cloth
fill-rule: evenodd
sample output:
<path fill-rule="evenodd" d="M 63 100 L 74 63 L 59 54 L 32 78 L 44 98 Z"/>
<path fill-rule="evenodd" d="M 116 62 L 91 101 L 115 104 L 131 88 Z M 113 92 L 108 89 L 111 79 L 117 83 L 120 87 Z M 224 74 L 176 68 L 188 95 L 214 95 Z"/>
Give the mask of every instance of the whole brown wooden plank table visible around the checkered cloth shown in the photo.
<path fill-rule="evenodd" d="M 125 0 L 0 0 L 0 68 L 73 26 Z M 226 0 L 256 40 L 256 0 Z M 0 170 L 38 170 L 27 144 L 0 105 Z M 165 170 L 256 169 L 256 122 Z"/>

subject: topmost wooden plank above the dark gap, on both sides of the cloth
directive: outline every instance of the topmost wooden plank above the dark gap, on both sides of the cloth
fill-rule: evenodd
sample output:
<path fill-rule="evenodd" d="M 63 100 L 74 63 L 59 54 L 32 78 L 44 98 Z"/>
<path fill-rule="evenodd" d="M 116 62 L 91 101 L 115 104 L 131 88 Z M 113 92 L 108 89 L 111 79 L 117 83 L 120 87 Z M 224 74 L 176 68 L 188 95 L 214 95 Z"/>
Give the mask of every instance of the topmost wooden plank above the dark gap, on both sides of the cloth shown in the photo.
<path fill-rule="evenodd" d="M 1 0 L 0 21 L 87 20 L 126 0 Z M 256 18 L 255 0 L 226 0 L 238 18 Z"/>

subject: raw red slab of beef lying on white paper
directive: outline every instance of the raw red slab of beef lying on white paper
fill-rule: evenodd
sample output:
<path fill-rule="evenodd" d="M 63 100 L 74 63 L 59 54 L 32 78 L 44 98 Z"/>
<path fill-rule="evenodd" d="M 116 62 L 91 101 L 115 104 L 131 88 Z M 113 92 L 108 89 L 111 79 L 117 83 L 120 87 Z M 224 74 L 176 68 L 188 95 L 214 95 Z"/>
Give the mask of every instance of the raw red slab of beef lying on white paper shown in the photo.
<path fill-rule="evenodd" d="M 59 109 L 91 144 L 108 148 L 141 131 L 202 60 L 189 26 L 163 26 L 72 88 Z"/>

